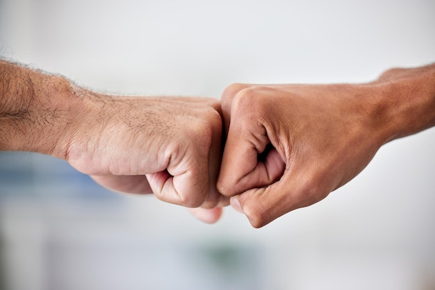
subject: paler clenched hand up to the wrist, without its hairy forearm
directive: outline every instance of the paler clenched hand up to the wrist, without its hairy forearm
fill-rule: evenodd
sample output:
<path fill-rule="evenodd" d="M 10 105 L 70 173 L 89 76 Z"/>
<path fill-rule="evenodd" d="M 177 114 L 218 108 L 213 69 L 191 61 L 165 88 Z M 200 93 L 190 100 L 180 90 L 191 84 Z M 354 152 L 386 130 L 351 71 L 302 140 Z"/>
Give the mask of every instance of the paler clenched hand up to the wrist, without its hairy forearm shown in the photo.
<path fill-rule="evenodd" d="M 215 187 L 222 155 L 218 101 L 94 95 L 83 102 L 89 109 L 67 149 L 73 167 L 115 191 L 152 191 L 186 207 L 228 204 Z M 222 210 L 210 213 L 213 222 Z"/>

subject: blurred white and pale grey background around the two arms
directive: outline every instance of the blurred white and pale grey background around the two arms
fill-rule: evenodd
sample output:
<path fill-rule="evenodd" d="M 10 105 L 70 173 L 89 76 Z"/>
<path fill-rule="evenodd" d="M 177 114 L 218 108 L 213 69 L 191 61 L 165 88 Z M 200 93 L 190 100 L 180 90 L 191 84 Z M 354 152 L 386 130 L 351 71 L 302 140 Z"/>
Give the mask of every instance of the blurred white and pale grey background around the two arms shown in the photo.
<path fill-rule="evenodd" d="M 361 83 L 435 61 L 433 0 L 0 0 L 0 55 L 113 94 Z M 91 125 L 91 124 L 90 124 Z M 0 153 L 0 289 L 435 289 L 435 129 L 261 229 Z"/>

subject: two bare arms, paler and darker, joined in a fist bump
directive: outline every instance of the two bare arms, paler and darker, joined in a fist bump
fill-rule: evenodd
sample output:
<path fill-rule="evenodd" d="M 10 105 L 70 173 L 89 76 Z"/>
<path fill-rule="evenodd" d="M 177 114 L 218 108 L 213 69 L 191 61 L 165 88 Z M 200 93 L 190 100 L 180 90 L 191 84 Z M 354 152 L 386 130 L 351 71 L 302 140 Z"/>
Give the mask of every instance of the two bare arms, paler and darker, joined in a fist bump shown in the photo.
<path fill-rule="evenodd" d="M 325 198 L 393 139 L 435 126 L 435 64 L 363 84 L 244 85 L 220 101 L 113 96 L 0 60 L 0 151 L 59 157 L 100 185 L 255 228 Z"/>

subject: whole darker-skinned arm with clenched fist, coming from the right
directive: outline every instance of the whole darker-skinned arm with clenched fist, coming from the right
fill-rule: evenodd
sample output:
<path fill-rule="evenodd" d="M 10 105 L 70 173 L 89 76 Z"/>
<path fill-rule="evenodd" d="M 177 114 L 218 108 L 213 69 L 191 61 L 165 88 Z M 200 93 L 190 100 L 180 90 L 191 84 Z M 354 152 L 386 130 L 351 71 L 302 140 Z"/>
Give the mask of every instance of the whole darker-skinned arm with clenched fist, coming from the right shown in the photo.
<path fill-rule="evenodd" d="M 259 228 L 352 180 L 383 144 L 435 126 L 435 65 L 359 85 L 231 85 L 222 110 L 217 188 Z"/>

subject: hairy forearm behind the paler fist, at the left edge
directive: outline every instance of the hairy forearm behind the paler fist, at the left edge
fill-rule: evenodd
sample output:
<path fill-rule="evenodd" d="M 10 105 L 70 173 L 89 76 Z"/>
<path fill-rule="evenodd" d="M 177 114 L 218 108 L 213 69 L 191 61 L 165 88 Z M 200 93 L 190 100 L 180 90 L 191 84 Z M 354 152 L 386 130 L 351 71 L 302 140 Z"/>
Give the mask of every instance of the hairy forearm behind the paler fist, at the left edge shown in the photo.
<path fill-rule="evenodd" d="M 63 157 L 79 102 L 66 78 L 0 60 L 0 151 Z"/>

